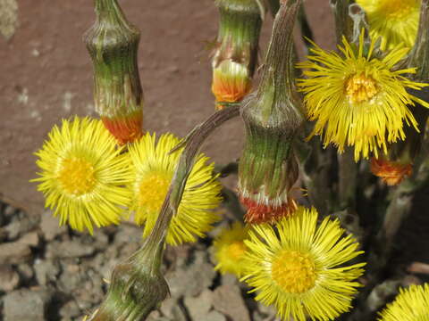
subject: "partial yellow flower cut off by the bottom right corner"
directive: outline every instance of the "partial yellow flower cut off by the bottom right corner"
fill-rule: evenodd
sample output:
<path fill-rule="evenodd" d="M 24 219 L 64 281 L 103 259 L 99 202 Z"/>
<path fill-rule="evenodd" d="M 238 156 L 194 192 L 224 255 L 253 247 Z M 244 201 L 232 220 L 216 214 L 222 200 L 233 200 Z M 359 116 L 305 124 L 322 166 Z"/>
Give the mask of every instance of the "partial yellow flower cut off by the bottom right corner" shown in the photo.
<path fill-rule="evenodd" d="M 429 284 L 400 289 L 396 299 L 379 315 L 380 321 L 429 321 Z"/>

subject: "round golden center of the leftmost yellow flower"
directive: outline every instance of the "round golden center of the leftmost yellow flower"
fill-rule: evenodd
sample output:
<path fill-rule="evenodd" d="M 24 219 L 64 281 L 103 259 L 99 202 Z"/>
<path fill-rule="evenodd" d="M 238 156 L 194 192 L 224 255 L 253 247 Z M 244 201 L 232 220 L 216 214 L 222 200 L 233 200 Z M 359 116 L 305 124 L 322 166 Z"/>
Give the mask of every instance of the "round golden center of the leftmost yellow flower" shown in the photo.
<path fill-rule="evenodd" d="M 58 180 L 67 193 L 80 196 L 90 192 L 96 185 L 95 170 L 86 160 L 73 157 L 63 161 Z"/>

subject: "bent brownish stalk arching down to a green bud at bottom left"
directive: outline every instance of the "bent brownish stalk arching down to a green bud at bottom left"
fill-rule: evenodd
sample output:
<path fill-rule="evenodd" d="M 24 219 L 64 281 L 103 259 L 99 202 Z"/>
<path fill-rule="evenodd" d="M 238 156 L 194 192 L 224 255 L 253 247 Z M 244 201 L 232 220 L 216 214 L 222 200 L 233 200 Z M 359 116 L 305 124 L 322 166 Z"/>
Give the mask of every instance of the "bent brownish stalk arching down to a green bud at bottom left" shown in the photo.
<path fill-rule="evenodd" d="M 160 272 L 160 266 L 168 226 L 177 213 L 201 144 L 215 128 L 238 115 L 237 106 L 217 111 L 171 151 L 175 152 L 184 145 L 156 224 L 141 248 L 114 268 L 105 301 L 88 321 L 144 320 L 165 299 L 168 285 Z"/>

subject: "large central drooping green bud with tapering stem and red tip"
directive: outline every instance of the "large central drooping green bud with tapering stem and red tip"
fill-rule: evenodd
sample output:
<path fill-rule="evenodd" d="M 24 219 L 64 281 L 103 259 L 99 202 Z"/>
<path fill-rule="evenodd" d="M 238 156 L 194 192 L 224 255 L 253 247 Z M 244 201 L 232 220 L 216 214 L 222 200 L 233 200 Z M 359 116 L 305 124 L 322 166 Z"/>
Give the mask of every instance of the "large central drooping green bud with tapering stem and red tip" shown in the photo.
<path fill-rule="evenodd" d="M 292 30 L 299 4 L 282 4 L 261 83 L 241 107 L 246 141 L 239 164 L 239 192 L 248 207 L 249 223 L 273 222 L 297 207 L 290 189 L 299 176 L 292 141 L 304 121 L 292 70 Z"/>

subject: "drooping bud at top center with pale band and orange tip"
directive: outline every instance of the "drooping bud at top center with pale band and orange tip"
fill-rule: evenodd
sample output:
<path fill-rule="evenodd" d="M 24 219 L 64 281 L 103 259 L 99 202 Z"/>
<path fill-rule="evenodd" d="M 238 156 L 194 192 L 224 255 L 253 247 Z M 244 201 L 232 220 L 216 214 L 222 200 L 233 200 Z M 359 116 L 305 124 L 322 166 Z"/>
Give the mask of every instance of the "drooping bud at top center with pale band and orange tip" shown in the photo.
<path fill-rule="evenodd" d="M 216 109 L 248 94 L 257 64 L 263 13 L 256 0 L 218 0 L 220 25 L 212 60 Z"/>

